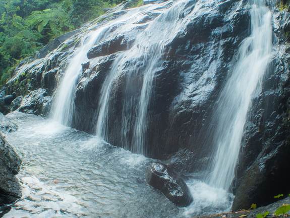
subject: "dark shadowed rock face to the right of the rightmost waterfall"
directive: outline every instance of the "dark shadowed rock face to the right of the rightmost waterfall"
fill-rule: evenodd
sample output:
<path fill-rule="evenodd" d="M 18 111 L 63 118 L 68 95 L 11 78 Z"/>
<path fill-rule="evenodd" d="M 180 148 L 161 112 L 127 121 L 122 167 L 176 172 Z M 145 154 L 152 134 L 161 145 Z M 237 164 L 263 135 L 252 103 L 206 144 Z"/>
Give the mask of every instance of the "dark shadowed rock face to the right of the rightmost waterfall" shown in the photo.
<path fill-rule="evenodd" d="M 277 52 L 245 126 L 233 210 L 250 208 L 252 203 L 267 205 L 277 200 L 278 193 L 290 192 L 290 56 L 283 36 L 290 14 L 278 12 L 274 18 Z"/>

